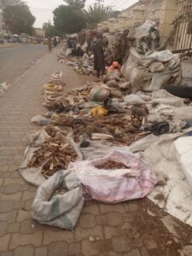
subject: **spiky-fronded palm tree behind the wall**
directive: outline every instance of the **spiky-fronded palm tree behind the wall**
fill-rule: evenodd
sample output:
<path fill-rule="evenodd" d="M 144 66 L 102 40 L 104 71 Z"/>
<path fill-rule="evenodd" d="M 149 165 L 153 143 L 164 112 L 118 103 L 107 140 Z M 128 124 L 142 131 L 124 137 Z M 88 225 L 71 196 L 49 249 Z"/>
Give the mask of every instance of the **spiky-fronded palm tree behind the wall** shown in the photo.
<path fill-rule="evenodd" d="M 87 10 L 84 10 L 84 15 L 89 25 L 95 25 L 104 20 L 108 20 L 110 14 L 110 9 L 106 9 L 103 6 L 96 4 L 93 7 L 89 6 Z"/>

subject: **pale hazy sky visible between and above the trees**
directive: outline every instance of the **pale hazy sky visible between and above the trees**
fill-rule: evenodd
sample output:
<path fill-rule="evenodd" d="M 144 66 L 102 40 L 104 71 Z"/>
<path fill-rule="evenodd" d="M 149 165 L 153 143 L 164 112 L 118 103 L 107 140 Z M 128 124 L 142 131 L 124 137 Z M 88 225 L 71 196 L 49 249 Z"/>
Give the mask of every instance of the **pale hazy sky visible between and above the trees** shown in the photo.
<path fill-rule="evenodd" d="M 44 22 L 49 20 L 53 21 L 52 11 L 63 4 L 63 0 L 25 0 L 30 7 L 32 15 L 36 17 L 35 27 L 42 27 Z M 86 0 L 85 8 L 89 5 L 93 5 L 96 0 Z M 112 6 L 113 9 L 123 10 L 132 4 L 137 3 L 137 0 L 101 0 L 101 4 L 104 6 Z"/>

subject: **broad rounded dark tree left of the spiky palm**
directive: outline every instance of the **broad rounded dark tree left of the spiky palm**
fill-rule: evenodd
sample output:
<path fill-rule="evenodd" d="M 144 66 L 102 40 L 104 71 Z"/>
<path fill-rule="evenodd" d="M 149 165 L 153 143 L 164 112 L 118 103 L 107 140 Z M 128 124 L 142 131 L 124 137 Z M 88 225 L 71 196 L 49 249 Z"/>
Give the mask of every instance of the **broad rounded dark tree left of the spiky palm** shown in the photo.
<path fill-rule="evenodd" d="M 84 12 L 70 5 L 61 5 L 54 10 L 54 25 L 58 32 L 80 32 L 86 26 Z"/>

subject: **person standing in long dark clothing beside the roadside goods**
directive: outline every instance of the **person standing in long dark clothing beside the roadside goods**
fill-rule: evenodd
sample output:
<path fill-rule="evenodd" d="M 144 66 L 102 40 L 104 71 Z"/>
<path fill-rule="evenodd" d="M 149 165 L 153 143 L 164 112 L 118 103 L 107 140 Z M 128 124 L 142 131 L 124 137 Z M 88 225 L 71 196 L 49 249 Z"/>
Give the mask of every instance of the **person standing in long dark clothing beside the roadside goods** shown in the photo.
<path fill-rule="evenodd" d="M 96 44 L 94 47 L 94 69 L 96 70 L 97 78 L 105 73 L 105 59 L 104 59 L 104 45 L 102 41 L 102 34 L 97 35 Z"/>

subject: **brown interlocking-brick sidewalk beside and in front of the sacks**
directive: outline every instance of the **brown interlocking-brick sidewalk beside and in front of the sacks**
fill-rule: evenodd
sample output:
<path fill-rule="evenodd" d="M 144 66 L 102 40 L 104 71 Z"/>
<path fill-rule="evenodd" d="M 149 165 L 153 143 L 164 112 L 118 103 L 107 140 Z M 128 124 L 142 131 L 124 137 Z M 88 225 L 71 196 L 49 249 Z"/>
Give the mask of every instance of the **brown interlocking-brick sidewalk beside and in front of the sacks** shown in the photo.
<path fill-rule="evenodd" d="M 67 90 L 84 84 L 85 79 L 93 80 L 68 67 L 63 69 L 55 60 L 55 53 L 45 55 L 0 97 L 0 255 L 179 255 L 181 244 L 191 239 L 186 237 L 186 231 L 191 229 L 179 223 L 182 239 L 176 242 L 160 221 L 165 212 L 146 199 L 118 205 L 86 202 L 74 232 L 32 220 L 30 209 L 36 188 L 26 183 L 17 170 L 27 134 L 39 130 L 30 119 L 46 112 L 42 106 L 42 84 L 51 73 L 60 70 L 64 72 Z M 154 216 L 148 214 L 148 209 Z"/>

